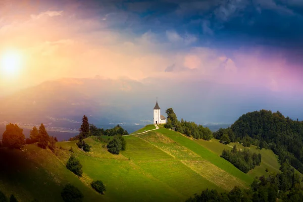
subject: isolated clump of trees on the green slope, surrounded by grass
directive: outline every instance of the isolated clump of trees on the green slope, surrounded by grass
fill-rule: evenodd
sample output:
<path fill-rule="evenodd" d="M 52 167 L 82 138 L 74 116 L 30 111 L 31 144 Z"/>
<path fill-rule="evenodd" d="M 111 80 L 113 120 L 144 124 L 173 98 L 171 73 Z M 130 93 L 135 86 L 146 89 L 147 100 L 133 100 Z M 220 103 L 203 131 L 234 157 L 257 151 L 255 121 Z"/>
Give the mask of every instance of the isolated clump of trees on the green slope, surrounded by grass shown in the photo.
<path fill-rule="evenodd" d="M 243 151 L 238 150 L 236 145 L 231 151 L 223 149 L 221 157 L 244 173 L 254 169 L 255 166 L 260 166 L 261 163 L 261 154 L 251 153 L 247 148 Z"/>

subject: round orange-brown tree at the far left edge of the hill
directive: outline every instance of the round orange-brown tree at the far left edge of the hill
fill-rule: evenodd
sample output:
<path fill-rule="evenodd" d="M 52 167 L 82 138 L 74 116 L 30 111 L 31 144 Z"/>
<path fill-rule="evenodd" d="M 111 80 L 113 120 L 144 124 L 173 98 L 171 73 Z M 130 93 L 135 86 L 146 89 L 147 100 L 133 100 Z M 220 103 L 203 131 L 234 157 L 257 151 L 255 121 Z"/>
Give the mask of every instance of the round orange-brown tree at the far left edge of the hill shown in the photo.
<path fill-rule="evenodd" d="M 8 124 L 6 126 L 6 131 L 4 131 L 2 136 L 2 141 L 5 146 L 10 148 L 20 148 L 24 144 L 25 136 L 23 134 L 23 129 L 19 128 L 17 124 Z"/>

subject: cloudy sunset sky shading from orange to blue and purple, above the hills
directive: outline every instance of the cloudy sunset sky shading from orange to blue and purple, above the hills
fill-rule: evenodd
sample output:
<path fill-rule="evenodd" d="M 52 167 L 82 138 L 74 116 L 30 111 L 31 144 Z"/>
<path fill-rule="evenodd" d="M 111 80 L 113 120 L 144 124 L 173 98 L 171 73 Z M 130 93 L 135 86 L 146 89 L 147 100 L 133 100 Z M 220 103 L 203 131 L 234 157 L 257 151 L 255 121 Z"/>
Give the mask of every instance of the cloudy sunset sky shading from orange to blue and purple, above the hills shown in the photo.
<path fill-rule="evenodd" d="M 18 59 L 2 62 L 0 91 L 127 78 L 186 94 L 187 112 L 216 103 L 212 120 L 278 108 L 303 119 L 302 25 L 300 0 L 0 0 L 0 60 Z"/>

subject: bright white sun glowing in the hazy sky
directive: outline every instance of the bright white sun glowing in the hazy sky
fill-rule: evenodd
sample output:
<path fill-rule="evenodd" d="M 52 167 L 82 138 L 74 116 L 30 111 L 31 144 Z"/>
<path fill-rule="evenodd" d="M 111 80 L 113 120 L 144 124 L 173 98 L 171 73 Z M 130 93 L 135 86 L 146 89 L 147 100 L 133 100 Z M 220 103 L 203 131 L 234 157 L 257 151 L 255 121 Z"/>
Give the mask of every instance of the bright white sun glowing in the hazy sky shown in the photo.
<path fill-rule="evenodd" d="M 21 68 L 21 56 L 17 52 L 9 51 L 1 56 L 0 69 L 6 76 L 17 75 Z"/>

